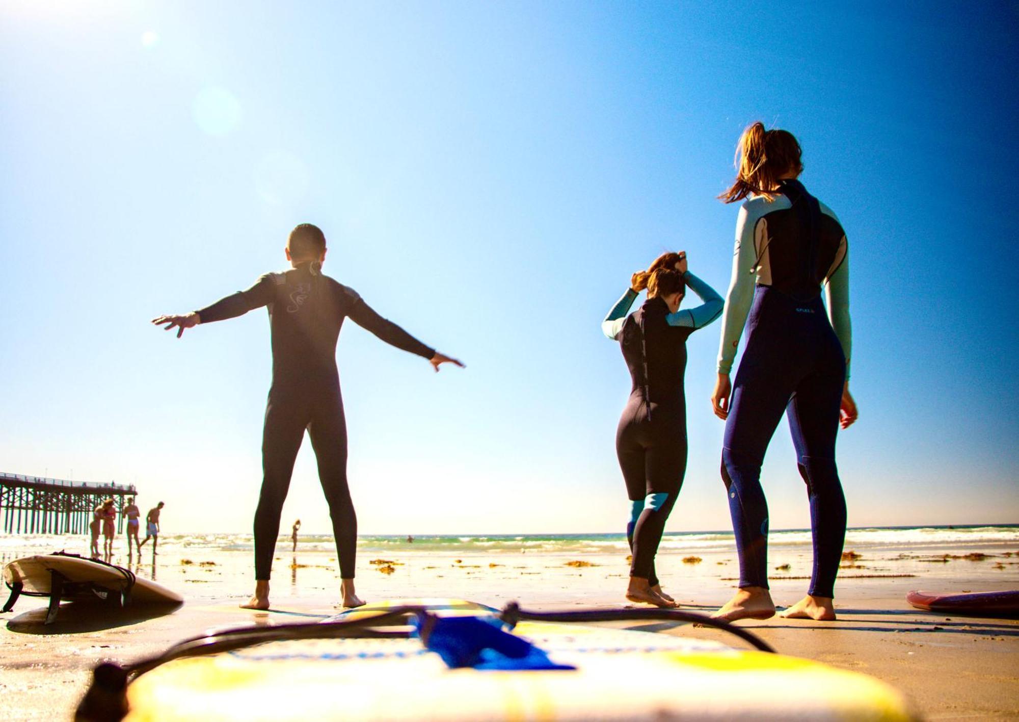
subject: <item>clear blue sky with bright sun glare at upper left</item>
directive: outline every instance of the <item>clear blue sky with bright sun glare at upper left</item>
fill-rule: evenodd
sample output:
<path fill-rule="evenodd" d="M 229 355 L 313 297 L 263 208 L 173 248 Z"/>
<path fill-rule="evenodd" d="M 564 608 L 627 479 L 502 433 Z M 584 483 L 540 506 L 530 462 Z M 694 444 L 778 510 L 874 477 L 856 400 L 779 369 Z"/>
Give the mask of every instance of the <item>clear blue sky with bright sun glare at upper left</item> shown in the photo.
<path fill-rule="evenodd" d="M 0 469 L 249 529 L 265 312 L 148 320 L 282 268 L 311 221 L 327 273 L 468 364 L 344 328 L 362 533 L 622 529 L 629 378 L 599 322 L 666 249 L 725 292 L 714 196 L 762 119 L 850 238 L 850 523 L 1019 521 L 1019 6 L 762 7 L 2 0 Z M 674 530 L 730 525 L 718 331 L 689 343 Z M 765 491 L 772 528 L 808 525 L 785 426 Z M 307 443 L 299 516 L 329 528 Z"/>

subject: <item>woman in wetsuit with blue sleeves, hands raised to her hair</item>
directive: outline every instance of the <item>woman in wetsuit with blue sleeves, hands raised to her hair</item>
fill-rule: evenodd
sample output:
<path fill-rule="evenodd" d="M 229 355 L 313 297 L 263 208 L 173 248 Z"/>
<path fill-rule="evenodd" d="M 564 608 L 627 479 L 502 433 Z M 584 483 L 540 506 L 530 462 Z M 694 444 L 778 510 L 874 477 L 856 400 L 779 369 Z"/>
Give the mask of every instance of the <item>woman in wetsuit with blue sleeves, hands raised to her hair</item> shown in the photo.
<path fill-rule="evenodd" d="M 681 311 L 687 287 L 703 303 Z M 645 289 L 647 300 L 627 315 Z M 721 297 L 687 269 L 686 253 L 664 253 L 633 274 L 601 323 L 605 336 L 620 342 L 633 380 L 615 431 L 630 498 L 627 539 L 633 559 L 626 597 L 631 602 L 676 606 L 661 589 L 654 557 L 687 468 L 687 338 L 716 319 L 721 306 Z"/>

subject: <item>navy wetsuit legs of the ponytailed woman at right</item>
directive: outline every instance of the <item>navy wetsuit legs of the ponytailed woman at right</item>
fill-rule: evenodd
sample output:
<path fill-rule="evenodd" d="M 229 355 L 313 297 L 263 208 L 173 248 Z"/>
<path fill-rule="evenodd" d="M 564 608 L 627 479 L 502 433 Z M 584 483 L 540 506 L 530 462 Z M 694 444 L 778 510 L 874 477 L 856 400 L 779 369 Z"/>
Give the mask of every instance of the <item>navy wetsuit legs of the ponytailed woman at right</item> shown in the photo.
<path fill-rule="evenodd" d="M 740 586 L 768 585 L 768 513 L 760 468 L 789 407 L 798 463 L 811 498 L 815 539 L 811 594 L 829 597 L 846 526 L 845 499 L 835 467 L 845 357 L 819 298 L 799 302 L 759 287 L 748 326 L 722 448 Z"/>

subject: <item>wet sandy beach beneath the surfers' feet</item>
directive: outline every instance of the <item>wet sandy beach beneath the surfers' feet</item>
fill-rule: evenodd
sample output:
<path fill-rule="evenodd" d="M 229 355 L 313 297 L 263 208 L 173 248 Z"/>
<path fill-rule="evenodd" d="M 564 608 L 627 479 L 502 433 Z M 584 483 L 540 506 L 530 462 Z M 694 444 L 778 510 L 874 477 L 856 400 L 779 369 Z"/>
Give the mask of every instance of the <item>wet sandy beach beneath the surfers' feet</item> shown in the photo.
<path fill-rule="evenodd" d="M 118 546 L 122 548 L 123 542 Z M 775 617 L 740 625 L 784 654 L 874 675 L 910 697 L 928 719 L 1019 717 L 1019 620 L 925 613 L 904 599 L 907 591 L 918 588 L 1017 589 L 1019 549 L 1013 547 L 867 549 L 860 559 L 847 561 L 841 572 L 837 621 Z M 339 584 L 335 554 L 299 548 L 291 555 L 289 544 L 282 542 L 277 549 L 271 598 L 279 612 L 237 608 L 253 585 L 250 552 L 186 554 L 179 547 L 155 560 L 144 550 L 142 563 L 131 564 L 136 573 L 185 597 L 185 603 L 168 614 L 146 617 L 138 608 L 100 617 L 65 605 L 57 621 L 44 627 L 45 601 L 22 598 L 12 612 L 0 615 L 0 718 L 68 718 L 92 668 L 103 660 L 135 660 L 211 627 L 314 621 L 316 615 L 334 614 Z M 26 553 L 38 552 L 14 549 L 7 537 L 0 548 L 0 564 Z M 987 556 L 965 558 L 974 553 Z M 688 556 L 659 555 L 662 584 L 684 609 L 713 611 L 733 592 L 738 573 L 735 553 L 697 552 L 699 561 L 685 562 Z M 124 564 L 126 557 L 113 561 Z M 776 577 L 771 582 L 776 604 L 799 600 L 807 586 L 801 577 L 809 575 L 809 549 L 773 548 L 769 563 Z M 622 607 L 628 604 L 622 594 L 627 574 L 625 555 L 618 553 L 445 554 L 416 552 L 408 545 L 384 556 L 362 553 L 358 590 L 366 601 L 438 597 L 493 607 L 516 600 L 522 607 L 539 610 Z M 741 643 L 706 627 L 662 630 L 661 626 L 655 624 L 654 629 Z"/>

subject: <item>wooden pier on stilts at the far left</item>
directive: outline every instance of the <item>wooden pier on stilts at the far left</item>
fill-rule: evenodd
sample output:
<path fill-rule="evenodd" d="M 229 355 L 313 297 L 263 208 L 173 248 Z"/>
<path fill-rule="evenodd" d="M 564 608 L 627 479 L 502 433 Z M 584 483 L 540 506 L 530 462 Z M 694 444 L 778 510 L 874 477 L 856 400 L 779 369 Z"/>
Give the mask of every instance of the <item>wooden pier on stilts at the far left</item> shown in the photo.
<path fill-rule="evenodd" d="M 88 533 L 92 510 L 112 498 L 120 533 L 124 498 L 136 494 L 133 484 L 64 481 L 0 471 L 3 530 L 8 534 Z"/>

